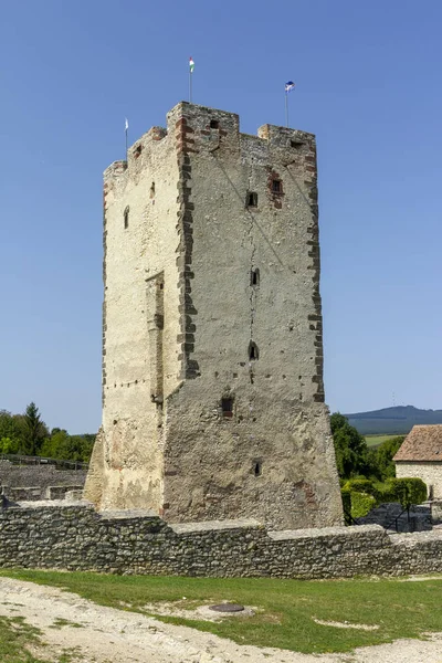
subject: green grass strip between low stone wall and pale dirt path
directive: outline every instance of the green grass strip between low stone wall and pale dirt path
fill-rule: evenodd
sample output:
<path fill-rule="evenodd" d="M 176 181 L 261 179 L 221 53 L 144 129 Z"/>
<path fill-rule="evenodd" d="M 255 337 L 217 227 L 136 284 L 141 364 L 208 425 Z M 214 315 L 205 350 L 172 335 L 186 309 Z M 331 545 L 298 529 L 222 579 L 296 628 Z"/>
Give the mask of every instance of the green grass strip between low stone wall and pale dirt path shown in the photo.
<path fill-rule="evenodd" d="M 96 603 L 141 612 L 146 603 L 162 601 L 179 601 L 180 608 L 223 600 L 254 606 L 259 608 L 254 617 L 228 618 L 221 622 L 172 617 L 158 619 L 210 631 L 240 644 L 304 653 L 346 652 L 356 646 L 391 642 L 398 638 L 422 638 L 423 632 L 442 631 L 442 576 L 421 582 L 403 582 L 108 576 L 28 570 L 3 570 L 1 575 L 61 587 Z M 379 629 L 337 629 L 319 625 L 313 618 L 378 624 Z"/>

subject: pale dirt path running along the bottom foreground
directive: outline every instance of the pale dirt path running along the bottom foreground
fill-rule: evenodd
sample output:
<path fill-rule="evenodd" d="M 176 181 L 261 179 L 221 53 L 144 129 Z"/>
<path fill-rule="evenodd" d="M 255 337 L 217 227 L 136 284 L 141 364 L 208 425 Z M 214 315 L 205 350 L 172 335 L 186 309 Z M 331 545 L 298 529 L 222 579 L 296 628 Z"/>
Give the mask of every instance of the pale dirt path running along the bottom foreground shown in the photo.
<path fill-rule="evenodd" d="M 78 656 L 73 661 L 82 663 L 442 663 L 442 633 L 430 641 L 402 640 L 354 654 L 304 655 L 240 646 L 210 633 L 9 578 L 0 578 L 0 615 L 21 615 L 41 629 L 49 644 L 43 657 L 75 650 Z M 51 628 L 57 621 L 59 627 Z"/>

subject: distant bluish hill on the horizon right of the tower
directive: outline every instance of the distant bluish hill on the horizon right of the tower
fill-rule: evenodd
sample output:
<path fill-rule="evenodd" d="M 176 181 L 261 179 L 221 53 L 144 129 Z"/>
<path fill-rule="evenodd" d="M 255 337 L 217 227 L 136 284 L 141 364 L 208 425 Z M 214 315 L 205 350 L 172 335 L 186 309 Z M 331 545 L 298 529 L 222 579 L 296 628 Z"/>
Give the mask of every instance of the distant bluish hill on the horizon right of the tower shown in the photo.
<path fill-rule="evenodd" d="M 345 417 L 362 435 L 404 435 L 418 423 L 442 423 L 442 410 L 420 410 L 413 406 L 356 412 Z"/>

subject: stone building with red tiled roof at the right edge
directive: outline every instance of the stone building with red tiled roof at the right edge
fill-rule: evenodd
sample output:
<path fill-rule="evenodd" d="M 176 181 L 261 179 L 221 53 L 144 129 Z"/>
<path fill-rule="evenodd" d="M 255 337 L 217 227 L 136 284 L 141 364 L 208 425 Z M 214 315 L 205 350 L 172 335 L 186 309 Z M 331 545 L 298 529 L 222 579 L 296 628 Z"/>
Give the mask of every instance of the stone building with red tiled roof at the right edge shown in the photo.
<path fill-rule="evenodd" d="M 442 498 L 442 424 L 414 425 L 393 457 L 398 477 L 417 476 Z"/>

